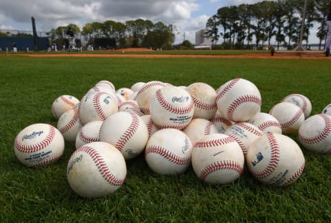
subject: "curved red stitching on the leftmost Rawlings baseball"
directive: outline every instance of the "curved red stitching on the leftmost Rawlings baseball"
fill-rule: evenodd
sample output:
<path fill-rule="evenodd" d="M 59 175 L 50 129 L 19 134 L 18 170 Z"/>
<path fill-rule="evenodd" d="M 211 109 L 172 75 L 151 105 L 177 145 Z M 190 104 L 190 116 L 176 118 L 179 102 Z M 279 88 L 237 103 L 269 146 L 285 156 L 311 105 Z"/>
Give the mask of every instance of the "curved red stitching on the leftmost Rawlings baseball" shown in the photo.
<path fill-rule="evenodd" d="M 43 139 L 41 142 L 38 142 L 37 144 L 32 145 L 23 145 L 19 142 L 19 139 L 16 137 L 15 139 L 15 148 L 17 148 L 18 151 L 21 153 L 34 153 L 37 151 L 40 151 L 41 149 L 45 148 L 49 144 L 52 143 L 54 137 L 55 137 L 55 127 L 49 125 L 50 129 L 48 132 L 48 135 L 46 135 L 46 138 Z"/>

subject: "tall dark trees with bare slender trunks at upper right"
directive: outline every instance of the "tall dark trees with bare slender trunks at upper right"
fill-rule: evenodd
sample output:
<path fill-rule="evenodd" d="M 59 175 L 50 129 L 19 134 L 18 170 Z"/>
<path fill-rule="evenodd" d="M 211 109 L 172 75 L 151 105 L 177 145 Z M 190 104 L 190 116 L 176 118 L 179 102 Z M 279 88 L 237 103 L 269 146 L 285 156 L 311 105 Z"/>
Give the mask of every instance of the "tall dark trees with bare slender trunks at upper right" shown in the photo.
<path fill-rule="evenodd" d="M 303 42 L 308 47 L 311 28 L 317 24 L 319 49 L 325 43 L 330 0 L 308 0 L 305 11 Z M 270 46 L 272 38 L 288 49 L 299 43 L 303 21 L 304 0 L 261 1 L 219 8 L 206 23 L 205 36 L 214 46 L 221 40 L 221 48 L 245 49 Z"/>

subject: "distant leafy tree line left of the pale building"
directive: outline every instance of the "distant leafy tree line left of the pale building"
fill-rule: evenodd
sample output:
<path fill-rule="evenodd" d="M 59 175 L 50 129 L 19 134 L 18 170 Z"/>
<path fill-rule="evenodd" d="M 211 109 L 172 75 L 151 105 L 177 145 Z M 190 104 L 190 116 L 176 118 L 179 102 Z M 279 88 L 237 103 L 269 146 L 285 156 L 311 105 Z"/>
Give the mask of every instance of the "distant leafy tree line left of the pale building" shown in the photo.
<path fill-rule="evenodd" d="M 115 39 L 117 48 L 172 48 L 174 43 L 173 26 L 162 22 L 152 23 L 150 20 L 136 19 L 125 23 L 105 21 L 103 23 L 86 23 L 82 30 L 75 25 L 59 26 L 47 33 L 52 42 L 66 39 L 66 31 L 70 26 L 74 35 L 82 35 L 85 42 L 94 45 L 95 38 Z"/>

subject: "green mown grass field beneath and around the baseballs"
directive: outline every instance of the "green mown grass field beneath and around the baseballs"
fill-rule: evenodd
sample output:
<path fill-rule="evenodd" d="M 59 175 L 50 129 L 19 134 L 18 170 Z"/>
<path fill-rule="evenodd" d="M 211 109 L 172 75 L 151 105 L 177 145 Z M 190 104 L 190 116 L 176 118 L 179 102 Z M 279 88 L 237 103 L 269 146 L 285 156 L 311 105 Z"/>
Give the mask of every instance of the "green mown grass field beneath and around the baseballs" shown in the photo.
<path fill-rule="evenodd" d="M 60 95 L 81 98 L 106 79 L 116 88 L 159 80 L 176 86 L 202 81 L 219 88 L 235 77 L 260 90 L 262 112 L 291 93 L 312 102 L 312 114 L 331 103 L 325 59 L 139 59 L 0 56 L 0 222 L 330 222 L 331 158 L 303 148 L 306 166 L 288 188 L 266 186 L 245 168 L 239 180 L 205 184 L 192 167 L 182 175 L 152 173 L 143 155 L 127 163 L 126 182 L 98 200 L 78 197 L 66 179 L 74 144 L 58 162 L 23 166 L 14 138 L 34 123 L 57 125 L 51 105 Z M 297 140 L 297 135 L 290 135 Z M 299 142 L 298 142 L 299 143 Z"/>

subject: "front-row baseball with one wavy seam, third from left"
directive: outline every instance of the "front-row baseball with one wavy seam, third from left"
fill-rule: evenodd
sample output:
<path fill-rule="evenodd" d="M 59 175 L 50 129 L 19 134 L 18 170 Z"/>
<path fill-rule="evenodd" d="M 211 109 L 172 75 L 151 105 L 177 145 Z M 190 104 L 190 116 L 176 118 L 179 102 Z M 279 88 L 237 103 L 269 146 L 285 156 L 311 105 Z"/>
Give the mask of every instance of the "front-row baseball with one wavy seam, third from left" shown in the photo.
<path fill-rule="evenodd" d="M 192 143 L 187 135 L 175 128 L 154 133 L 146 145 L 145 159 L 154 173 L 176 175 L 191 164 Z"/>

